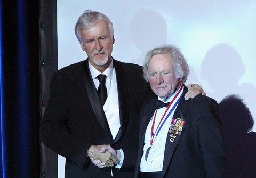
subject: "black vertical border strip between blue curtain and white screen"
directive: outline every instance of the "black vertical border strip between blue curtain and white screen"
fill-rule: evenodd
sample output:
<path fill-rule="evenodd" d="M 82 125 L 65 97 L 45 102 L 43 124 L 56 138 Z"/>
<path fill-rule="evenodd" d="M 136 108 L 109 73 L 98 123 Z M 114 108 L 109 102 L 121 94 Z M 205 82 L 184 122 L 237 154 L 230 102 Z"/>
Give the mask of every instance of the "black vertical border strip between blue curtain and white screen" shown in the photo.
<path fill-rule="evenodd" d="M 57 1 L 40 1 L 39 13 L 40 33 L 40 114 L 44 115 L 47 101 L 50 96 L 50 83 L 53 73 L 58 70 L 58 45 L 57 45 Z M 58 177 L 58 155 L 47 148 L 41 140 L 41 177 Z"/>

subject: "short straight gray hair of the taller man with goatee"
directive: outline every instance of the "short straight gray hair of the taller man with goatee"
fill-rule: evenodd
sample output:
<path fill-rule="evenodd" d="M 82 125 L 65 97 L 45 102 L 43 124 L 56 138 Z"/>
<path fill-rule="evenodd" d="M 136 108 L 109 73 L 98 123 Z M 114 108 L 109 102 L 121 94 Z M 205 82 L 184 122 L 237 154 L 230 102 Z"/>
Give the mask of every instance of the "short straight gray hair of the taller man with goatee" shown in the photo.
<path fill-rule="evenodd" d="M 96 11 L 91 11 L 91 10 L 86 10 L 84 13 L 82 13 L 79 17 L 79 19 L 76 22 L 75 26 L 75 34 L 79 42 L 82 41 L 81 36 L 80 36 L 80 31 L 84 29 L 89 29 L 96 25 L 98 21 L 103 21 L 108 23 L 110 35 L 114 35 L 114 28 L 113 28 L 113 23 L 109 20 L 109 18 Z"/>

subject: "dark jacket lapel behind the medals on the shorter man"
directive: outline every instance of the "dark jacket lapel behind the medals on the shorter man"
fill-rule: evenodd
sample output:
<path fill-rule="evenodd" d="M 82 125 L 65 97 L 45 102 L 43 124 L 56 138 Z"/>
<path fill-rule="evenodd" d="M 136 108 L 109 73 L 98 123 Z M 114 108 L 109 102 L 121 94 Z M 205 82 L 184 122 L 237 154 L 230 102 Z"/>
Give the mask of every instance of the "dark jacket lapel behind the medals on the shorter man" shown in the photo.
<path fill-rule="evenodd" d="M 174 112 L 173 118 L 174 120 L 181 120 L 185 121 L 185 124 L 183 125 L 183 130 L 182 132 L 186 129 L 186 119 L 184 117 L 184 114 L 188 111 L 187 107 L 187 102 L 184 99 L 184 94 L 187 93 L 187 87 L 184 88 L 184 91 L 182 93 L 180 102 L 178 104 L 177 109 Z M 179 143 L 180 137 L 182 136 L 181 134 L 178 134 L 176 132 L 174 133 L 169 133 L 167 134 L 166 137 L 166 144 L 165 144 L 165 151 L 164 151 L 164 163 L 163 163 L 163 171 L 162 171 L 162 177 L 164 177 L 167 169 L 169 168 L 171 159 L 173 157 L 173 153 L 177 149 L 177 145 Z"/>

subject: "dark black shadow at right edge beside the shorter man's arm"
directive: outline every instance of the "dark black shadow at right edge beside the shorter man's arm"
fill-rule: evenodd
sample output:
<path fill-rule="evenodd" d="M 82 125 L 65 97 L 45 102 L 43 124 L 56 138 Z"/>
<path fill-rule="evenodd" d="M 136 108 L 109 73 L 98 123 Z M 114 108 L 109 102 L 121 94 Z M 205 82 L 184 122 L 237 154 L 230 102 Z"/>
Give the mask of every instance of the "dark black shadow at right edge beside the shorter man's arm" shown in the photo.
<path fill-rule="evenodd" d="M 249 109 L 238 95 L 229 95 L 219 104 L 228 152 L 227 177 L 256 177 L 256 133 L 250 132 Z"/>

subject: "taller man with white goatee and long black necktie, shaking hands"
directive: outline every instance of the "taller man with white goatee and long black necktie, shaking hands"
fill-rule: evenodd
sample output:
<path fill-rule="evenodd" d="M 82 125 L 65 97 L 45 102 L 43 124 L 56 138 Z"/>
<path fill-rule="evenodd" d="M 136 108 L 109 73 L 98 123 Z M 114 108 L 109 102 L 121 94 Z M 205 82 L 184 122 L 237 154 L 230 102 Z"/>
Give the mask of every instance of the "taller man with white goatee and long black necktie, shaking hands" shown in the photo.
<path fill-rule="evenodd" d="M 88 58 L 53 75 L 42 139 L 66 158 L 65 177 L 130 178 L 138 147 L 137 118 L 149 85 L 141 66 L 112 58 L 114 29 L 106 15 L 86 10 L 75 33 Z M 188 98 L 202 93 L 195 88 Z M 102 152 L 105 144 L 108 151 Z"/>

